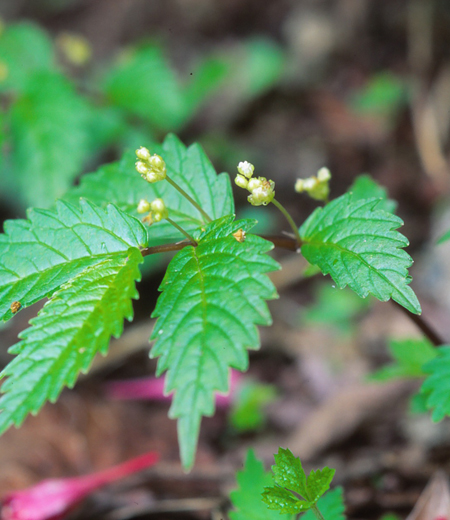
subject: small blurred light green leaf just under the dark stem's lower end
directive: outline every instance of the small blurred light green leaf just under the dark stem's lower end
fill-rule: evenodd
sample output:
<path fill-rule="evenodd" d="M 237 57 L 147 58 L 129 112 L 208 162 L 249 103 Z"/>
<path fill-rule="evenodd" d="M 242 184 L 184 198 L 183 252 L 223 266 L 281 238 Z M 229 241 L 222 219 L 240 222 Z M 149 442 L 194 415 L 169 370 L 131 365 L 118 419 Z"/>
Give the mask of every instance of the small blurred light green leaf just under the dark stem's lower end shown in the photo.
<path fill-rule="evenodd" d="M 424 377 L 423 366 L 438 355 L 438 351 L 425 338 L 391 340 L 388 347 L 396 363 L 372 374 L 370 379 L 373 381 Z"/>

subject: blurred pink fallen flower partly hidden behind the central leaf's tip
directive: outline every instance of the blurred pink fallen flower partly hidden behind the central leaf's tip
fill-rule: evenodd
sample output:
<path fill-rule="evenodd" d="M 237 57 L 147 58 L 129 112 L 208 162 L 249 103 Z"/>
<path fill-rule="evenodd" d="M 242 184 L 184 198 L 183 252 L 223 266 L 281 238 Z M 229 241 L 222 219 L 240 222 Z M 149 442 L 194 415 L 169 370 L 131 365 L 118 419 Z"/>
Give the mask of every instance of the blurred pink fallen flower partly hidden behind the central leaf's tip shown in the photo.
<path fill-rule="evenodd" d="M 231 371 L 229 392 L 216 394 L 217 408 L 231 406 L 241 379 L 242 375 L 239 372 Z M 106 385 L 106 392 L 112 399 L 171 401 L 172 395 L 164 395 L 164 382 L 164 377 L 141 377 L 127 381 L 114 381 Z"/>

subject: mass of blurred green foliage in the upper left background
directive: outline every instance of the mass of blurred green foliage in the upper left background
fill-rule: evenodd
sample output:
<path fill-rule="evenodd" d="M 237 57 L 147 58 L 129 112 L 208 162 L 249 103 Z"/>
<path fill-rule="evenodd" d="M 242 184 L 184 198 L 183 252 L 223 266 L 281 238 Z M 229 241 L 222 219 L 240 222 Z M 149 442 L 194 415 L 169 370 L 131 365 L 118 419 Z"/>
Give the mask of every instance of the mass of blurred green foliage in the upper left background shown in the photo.
<path fill-rule="evenodd" d="M 0 33 L 0 188 L 16 206 L 51 206 L 102 155 L 153 146 L 188 125 L 208 100 L 228 99 L 226 110 L 248 103 L 280 80 L 284 62 L 278 45 L 259 38 L 213 49 L 180 71 L 161 44 L 145 42 L 99 74 L 82 69 L 88 42 L 62 34 L 56 45 L 59 52 L 32 23 Z M 67 64 L 57 58 L 77 78 L 67 78 Z"/>

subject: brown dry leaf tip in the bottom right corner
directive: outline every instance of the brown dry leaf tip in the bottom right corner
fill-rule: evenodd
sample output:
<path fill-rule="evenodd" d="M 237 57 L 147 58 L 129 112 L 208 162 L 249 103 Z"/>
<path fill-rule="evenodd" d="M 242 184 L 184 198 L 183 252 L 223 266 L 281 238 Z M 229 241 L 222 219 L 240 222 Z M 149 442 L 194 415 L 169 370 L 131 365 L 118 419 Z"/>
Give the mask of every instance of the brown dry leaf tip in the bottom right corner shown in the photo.
<path fill-rule="evenodd" d="M 448 477 L 438 471 L 420 495 L 406 520 L 448 520 L 450 518 L 450 487 Z"/>

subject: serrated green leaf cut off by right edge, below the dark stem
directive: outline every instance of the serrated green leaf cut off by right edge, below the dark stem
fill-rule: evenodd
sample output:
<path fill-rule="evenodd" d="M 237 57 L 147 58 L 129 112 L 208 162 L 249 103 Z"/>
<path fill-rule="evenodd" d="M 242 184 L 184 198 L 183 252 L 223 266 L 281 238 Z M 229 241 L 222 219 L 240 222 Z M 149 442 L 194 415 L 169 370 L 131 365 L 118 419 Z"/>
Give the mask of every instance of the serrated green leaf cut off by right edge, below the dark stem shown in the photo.
<path fill-rule="evenodd" d="M 450 415 L 450 347 L 440 347 L 437 352 L 437 357 L 423 367 L 429 375 L 420 389 L 436 422 Z"/>

